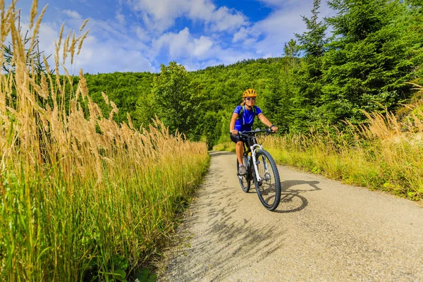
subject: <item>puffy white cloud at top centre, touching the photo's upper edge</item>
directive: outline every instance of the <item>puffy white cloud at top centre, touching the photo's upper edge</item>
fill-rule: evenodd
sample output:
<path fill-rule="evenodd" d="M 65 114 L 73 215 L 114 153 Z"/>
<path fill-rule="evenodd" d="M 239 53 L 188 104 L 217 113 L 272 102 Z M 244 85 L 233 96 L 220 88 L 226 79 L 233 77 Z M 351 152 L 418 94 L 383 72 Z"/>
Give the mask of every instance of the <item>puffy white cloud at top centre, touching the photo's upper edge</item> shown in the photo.
<path fill-rule="evenodd" d="M 230 31 L 248 24 L 242 13 L 225 6 L 217 9 L 209 0 L 130 0 L 130 3 L 142 13 L 147 27 L 159 32 L 173 26 L 181 16 L 199 20 L 215 31 Z"/>

